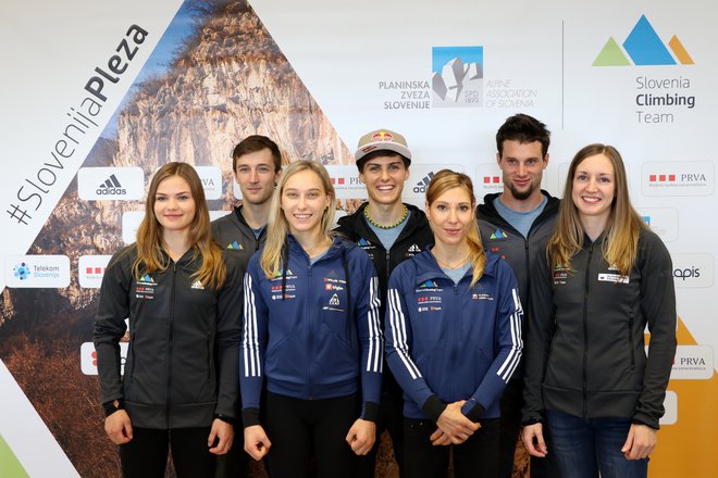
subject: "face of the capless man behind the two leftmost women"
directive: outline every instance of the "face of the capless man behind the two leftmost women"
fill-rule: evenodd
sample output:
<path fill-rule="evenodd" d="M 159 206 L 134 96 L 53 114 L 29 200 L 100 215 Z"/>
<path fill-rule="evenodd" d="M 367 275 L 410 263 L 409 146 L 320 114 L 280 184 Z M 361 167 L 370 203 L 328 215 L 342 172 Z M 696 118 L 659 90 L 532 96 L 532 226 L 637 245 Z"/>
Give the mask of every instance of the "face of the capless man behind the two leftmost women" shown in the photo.
<path fill-rule="evenodd" d="M 269 148 L 237 158 L 234 177 L 242 189 L 243 201 L 267 203 L 272 198 L 281 171 L 274 172 L 274 159 Z"/>

